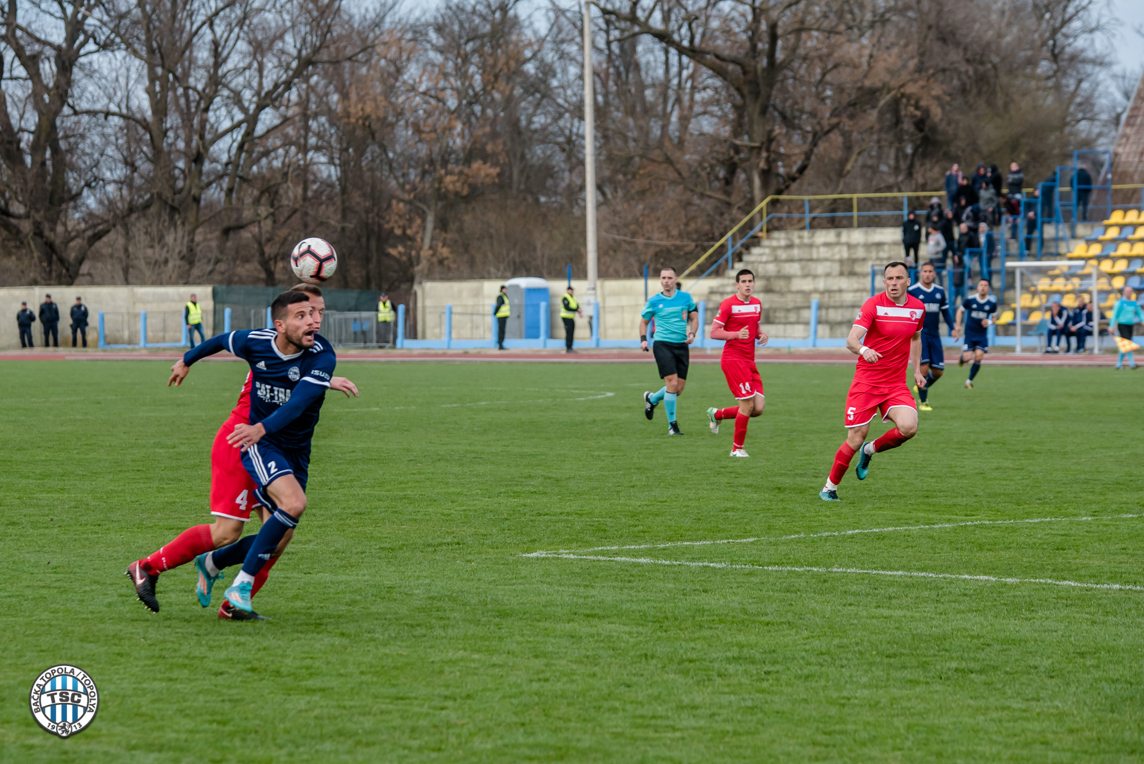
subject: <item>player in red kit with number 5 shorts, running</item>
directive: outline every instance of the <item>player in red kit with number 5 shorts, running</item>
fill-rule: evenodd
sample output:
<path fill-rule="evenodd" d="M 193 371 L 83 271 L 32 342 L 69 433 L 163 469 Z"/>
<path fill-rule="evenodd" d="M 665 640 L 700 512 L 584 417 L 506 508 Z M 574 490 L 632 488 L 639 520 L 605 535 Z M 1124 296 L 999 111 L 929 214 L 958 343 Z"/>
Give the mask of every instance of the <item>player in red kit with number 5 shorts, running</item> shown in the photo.
<path fill-rule="evenodd" d="M 906 385 L 906 365 L 913 368 L 914 383 L 924 388 L 920 365 L 925 305 L 906 292 L 909 269 L 905 263 L 887 265 L 882 284 L 885 292 L 863 303 L 847 337 L 847 349 L 858 356 L 858 366 L 847 393 L 847 440 L 834 455 L 831 477 L 818 494 L 824 501 L 841 501 L 839 483 L 859 449 L 855 473 L 865 480 L 875 453 L 897 448 L 917 433 L 917 408 Z M 869 423 L 879 413 L 883 422 L 889 420 L 896 427 L 877 440 L 866 441 Z"/>

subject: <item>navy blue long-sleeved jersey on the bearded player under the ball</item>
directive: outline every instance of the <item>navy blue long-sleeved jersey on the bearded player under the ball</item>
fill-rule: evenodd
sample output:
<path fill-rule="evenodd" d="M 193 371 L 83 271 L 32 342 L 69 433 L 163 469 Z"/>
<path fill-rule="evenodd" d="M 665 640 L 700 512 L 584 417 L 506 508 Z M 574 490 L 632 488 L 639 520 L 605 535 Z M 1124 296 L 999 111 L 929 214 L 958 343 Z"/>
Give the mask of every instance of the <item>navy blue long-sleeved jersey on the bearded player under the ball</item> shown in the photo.
<path fill-rule="evenodd" d="M 309 451 L 318 412 L 337 358 L 329 342 L 313 335 L 313 347 L 289 356 L 275 344 L 275 329 L 220 334 L 189 350 L 183 363 L 229 350 L 251 365 L 251 424 L 262 423 L 262 441 L 285 451 Z"/>

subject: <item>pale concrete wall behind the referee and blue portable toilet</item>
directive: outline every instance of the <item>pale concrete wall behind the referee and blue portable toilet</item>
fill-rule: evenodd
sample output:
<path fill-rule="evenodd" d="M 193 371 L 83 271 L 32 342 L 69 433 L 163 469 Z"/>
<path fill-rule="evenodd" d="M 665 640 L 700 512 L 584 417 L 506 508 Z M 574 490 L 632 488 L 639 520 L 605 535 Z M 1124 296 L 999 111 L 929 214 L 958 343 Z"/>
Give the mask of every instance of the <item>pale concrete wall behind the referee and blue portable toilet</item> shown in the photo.
<path fill-rule="evenodd" d="M 693 279 L 684 279 L 686 288 Z M 492 308 L 500 291 L 500 279 L 480 279 L 471 281 L 426 281 L 416 289 L 418 296 L 418 339 L 443 340 L 445 305 L 453 305 L 454 340 L 490 340 L 492 339 Z M 639 336 L 639 311 L 643 310 L 643 279 L 599 279 L 597 281 L 601 303 L 599 337 L 602 340 L 634 340 Z M 561 297 L 565 293 L 567 281 L 551 279 L 548 281 L 549 336 L 564 337 L 564 325 L 561 323 Z M 572 288 L 581 307 L 588 282 L 583 279 L 572 279 Z M 706 278 L 691 292 L 696 302 L 708 301 L 708 310 L 714 311 L 718 301 L 733 292 L 730 279 Z M 648 294 L 659 292 L 659 274 L 654 273 L 648 280 Z M 715 303 L 712 304 L 712 299 Z M 588 327 L 589 312 L 587 308 L 582 319 L 575 323 L 575 337 L 587 340 L 591 336 Z M 708 315 L 709 318 L 710 313 Z"/>

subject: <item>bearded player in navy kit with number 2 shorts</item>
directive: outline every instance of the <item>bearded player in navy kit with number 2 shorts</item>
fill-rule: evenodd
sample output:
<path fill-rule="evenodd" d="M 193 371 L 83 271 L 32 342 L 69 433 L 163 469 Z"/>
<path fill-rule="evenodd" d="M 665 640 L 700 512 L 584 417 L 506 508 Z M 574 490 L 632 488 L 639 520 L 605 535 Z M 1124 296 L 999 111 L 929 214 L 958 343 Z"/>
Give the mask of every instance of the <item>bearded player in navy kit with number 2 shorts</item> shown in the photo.
<path fill-rule="evenodd" d="M 231 332 L 207 340 L 183 357 L 172 373 L 177 384 L 191 364 L 230 350 L 251 365 L 251 423 L 236 424 L 228 443 L 243 451 L 243 465 L 259 486 L 259 500 L 273 511 L 257 535 L 215 550 L 217 568 L 243 562 L 227 589 L 231 606 L 251 612 L 254 576 L 287 531 L 305 511 L 310 440 L 337 360 L 313 331 L 312 307 L 302 292 L 286 292 L 270 305 L 273 329 Z"/>

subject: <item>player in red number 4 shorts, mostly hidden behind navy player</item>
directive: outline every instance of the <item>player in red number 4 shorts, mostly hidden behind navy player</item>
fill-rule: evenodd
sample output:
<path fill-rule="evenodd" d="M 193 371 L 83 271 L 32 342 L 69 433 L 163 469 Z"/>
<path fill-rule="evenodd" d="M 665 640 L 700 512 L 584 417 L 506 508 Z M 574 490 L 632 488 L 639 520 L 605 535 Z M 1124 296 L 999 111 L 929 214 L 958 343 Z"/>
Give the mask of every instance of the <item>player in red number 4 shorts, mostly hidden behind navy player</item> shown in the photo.
<path fill-rule="evenodd" d="M 304 292 L 310 296 L 310 305 L 313 308 L 315 331 L 317 331 L 321 326 L 321 316 L 326 310 L 321 291 L 309 284 L 300 284 L 293 289 Z M 344 376 L 331 379 L 329 388 L 331 390 L 341 390 L 347 397 L 358 395 L 357 387 Z M 236 424 L 248 424 L 251 421 L 249 393 L 251 373 L 247 372 L 246 382 L 243 384 L 243 390 L 238 396 L 238 404 L 230 412 L 230 416 L 227 417 L 223 425 L 219 428 L 219 432 L 215 433 L 214 444 L 210 447 L 210 514 L 215 516 L 214 523 L 190 527 L 169 543 L 159 547 L 158 551 L 127 566 L 127 575 L 135 586 L 135 596 L 153 613 L 159 612 L 159 600 L 156 597 L 154 584 L 158 582 L 160 573 L 189 563 L 199 555 L 214 551 L 220 547 L 225 547 L 238 541 L 239 536 L 243 535 L 244 525 L 251 519 L 252 511 L 257 511 L 259 516 L 263 520 L 265 519 L 265 507 L 255 499 L 254 490 L 256 486 L 243 467 L 241 453 L 238 448 L 233 448 L 227 443 L 227 437 L 233 432 Z M 267 576 L 270 574 L 270 568 L 273 567 L 278 556 L 281 555 L 283 549 L 289 543 L 292 536 L 293 530 L 283 539 L 278 549 L 275 550 L 275 556 L 262 566 L 262 571 L 252 587 L 252 597 L 254 596 L 253 592 L 256 592 L 265 583 Z M 207 596 L 207 604 L 209 604 L 209 594 Z M 219 611 L 219 618 L 233 618 L 236 620 L 261 619 L 256 613 L 235 611 L 229 607 L 229 603 L 223 603 L 222 608 Z"/>

